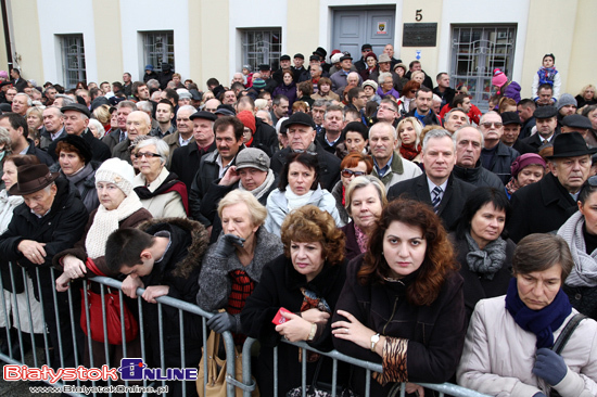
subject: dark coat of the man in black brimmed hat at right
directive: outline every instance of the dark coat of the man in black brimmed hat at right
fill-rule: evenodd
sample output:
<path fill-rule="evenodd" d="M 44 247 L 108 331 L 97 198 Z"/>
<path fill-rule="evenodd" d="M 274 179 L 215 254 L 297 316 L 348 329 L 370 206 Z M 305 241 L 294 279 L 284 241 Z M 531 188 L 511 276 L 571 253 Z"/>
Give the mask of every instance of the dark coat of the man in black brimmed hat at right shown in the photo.
<path fill-rule="evenodd" d="M 576 202 L 552 174 L 517 190 L 510 204 L 512 212 L 506 227 L 515 243 L 531 233 L 558 230 L 577 209 Z"/>

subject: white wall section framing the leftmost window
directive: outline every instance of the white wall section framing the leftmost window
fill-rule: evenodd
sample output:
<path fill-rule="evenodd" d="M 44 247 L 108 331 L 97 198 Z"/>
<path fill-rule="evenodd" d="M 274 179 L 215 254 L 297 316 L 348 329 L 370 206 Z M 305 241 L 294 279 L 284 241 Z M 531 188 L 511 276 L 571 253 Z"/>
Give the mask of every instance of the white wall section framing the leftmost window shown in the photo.
<path fill-rule="evenodd" d="M 82 34 L 87 80 L 97 81 L 98 54 L 91 0 L 38 0 L 37 8 L 46 80 L 64 85 L 61 41 L 55 35 Z"/>

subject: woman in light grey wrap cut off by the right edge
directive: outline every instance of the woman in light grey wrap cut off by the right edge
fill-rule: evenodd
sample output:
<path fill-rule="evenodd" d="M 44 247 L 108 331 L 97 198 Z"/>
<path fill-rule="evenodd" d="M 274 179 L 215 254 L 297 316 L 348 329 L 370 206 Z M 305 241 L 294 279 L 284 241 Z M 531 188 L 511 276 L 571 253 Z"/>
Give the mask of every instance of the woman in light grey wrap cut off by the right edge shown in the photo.
<path fill-rule="evenodd" d="M 558 230 L 570 246 L 574 267 L 563 291 L 572 306 L 597 319 L 597 176 L 588 178 L 577 198 L 579 210 Z"/>

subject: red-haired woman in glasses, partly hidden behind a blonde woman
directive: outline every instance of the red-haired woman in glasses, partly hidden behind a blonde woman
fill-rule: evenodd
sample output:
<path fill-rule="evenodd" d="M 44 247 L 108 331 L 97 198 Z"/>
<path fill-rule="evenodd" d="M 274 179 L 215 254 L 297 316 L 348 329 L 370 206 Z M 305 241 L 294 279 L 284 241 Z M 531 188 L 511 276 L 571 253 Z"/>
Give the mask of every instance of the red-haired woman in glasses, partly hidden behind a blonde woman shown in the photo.
<path fill-rule="evenodd" d="M 340 164 L 340 181 L 332 189 L 332 195 L 335 198 L 335 207 L 340 218 L 344 223 L 348 223 L 351 215 L 346 212 L 346 190 L 348 184 L 356 177 L 371 174 L 373 161 L 363 153 L 351 153 L 342 159 Z"/>

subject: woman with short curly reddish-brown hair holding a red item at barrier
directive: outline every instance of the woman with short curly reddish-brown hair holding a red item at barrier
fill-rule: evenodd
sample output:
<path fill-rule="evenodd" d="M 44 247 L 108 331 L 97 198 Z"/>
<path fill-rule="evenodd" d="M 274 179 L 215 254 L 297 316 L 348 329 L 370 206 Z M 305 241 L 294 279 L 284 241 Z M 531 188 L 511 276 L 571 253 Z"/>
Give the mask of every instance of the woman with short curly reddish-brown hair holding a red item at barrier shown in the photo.
<path fill-rule="evenodd" d="M 262 396 L 274 395 L 274 347 L 280 338 L 303 341 L 319 350 L 331 350 L 330 316 L 345 280 L 344 233 L 327 212 L 305 205 L 292 212 L 282 223 L 284 253 L 267 264 L 259 284 L 241 312 L 244 333 L 262 345 L 257 383 Z M 284 309 L 285 322 L 272 323 Z M 307 384 L 312 384 L 318 361 L 323 358 L 307 353 Z M 278 346 L 278 395 L 301 386 L 298 348 Z M 332 361 L 321 361 L 318 381 L 331 379 Z M 342 379 L 342 377 L 339 377 Z"/>

